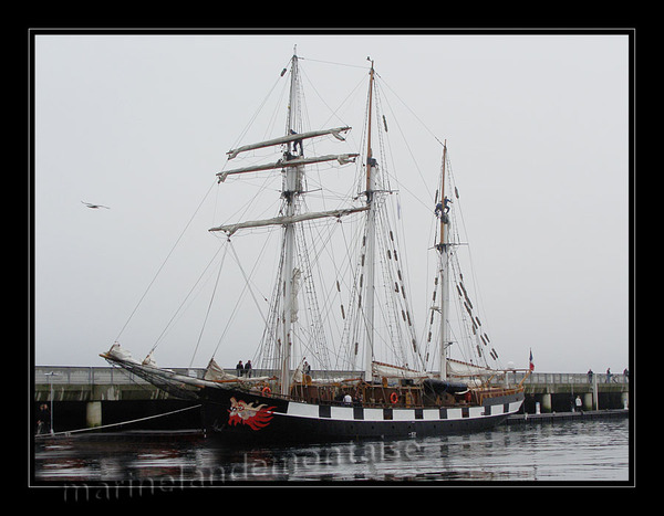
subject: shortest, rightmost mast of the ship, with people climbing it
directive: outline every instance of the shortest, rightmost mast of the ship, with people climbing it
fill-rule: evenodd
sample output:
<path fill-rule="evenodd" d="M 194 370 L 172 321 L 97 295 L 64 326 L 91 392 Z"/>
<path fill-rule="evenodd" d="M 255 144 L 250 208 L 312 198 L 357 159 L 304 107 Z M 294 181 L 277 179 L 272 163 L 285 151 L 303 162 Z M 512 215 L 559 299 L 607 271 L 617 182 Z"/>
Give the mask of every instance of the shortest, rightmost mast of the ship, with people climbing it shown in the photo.
<path fill-rule="evenodd" d="M 437 245 L 439 253 L 440 274 L 440 379 L 447 379 L 447 347 L 449 345 L 449 324 L 447 313 L 449 310 L 449 217 L 447 212 L 449 207 L 445 197 L 445 162 L 447 160 L 447 140 L 443 144 L 443 167 L 440 181 L 440 203 L 436 207 L 436 212 L 440 218 L 440 241 Z M 446 231 L 447 229 L 447 231 Z"/>

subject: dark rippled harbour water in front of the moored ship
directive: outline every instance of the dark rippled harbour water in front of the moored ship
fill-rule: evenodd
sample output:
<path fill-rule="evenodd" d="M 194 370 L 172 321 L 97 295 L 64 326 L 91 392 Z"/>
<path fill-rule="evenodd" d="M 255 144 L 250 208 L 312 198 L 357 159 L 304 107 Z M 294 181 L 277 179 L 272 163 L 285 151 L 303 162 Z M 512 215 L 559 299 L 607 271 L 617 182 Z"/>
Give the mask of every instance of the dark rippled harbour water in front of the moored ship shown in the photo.
<path fill-rule="evenodd" d="M 174 434 L 79 434 L 34 447 L 38 483 L 168 489 L 243 482 L 629 481 L 627 419 L 311 446 L 234 447 Z"/>

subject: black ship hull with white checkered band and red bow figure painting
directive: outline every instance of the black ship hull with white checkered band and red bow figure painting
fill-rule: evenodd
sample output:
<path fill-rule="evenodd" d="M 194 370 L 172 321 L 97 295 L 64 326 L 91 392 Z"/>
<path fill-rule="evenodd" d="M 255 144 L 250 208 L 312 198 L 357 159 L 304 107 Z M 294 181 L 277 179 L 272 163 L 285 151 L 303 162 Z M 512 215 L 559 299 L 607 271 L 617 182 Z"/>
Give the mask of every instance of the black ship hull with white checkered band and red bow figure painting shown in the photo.
<path fill-rule="evenodd" d="M 331 442 L 356 439 L 444 435 L 486 430 L 519 410 L 518 390 L 483 404 L 455 407 L 362 407 L 305 403 L 239 389 L 206 389 L 207 434 L 229 441 Z"/>

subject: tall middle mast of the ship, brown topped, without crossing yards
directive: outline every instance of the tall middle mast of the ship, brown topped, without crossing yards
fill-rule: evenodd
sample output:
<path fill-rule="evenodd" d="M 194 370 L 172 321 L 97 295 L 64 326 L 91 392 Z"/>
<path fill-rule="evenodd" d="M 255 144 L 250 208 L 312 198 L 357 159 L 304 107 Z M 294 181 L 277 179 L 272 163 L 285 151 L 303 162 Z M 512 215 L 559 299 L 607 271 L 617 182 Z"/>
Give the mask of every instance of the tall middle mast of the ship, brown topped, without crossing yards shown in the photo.
<path fill-rule="evenodd" d="M 375 262 L 375 232 L 376 232 L 376 206 L 374 202 L 374 191 L 376 183 L 377 162 L 373 157 L 371 148 L 371 115 L 373 105 L 373 84 L 374 84 L 374 67 L 371 62 L 371 71 L 369 72 L 369 122 L 367 122 L 367 138 L 366 138 L 366 345 L 364 349 L 364 380 L 372 380 L 372 361 L 374 351 L 374 262 Z"/>

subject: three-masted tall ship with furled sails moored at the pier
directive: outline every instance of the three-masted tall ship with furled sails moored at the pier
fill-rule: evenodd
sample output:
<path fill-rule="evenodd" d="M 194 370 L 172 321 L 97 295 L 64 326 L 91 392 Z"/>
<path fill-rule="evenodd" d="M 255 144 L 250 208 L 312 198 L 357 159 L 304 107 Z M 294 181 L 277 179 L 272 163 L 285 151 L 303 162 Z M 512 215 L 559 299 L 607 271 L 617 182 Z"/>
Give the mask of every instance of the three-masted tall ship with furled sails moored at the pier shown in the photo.
<path fill-rule="evenodd" d="M 241 141 L 216 173 L 225 189 L 242 188 L 245 179 L 252 186 L 263 178 L 281 182 L 280 191 L 268 191 L 271 212 L 209 229 L 222 253 L 235 253 L 239 236 L 256 239 L 256 249 L 270 236 L 279 240 L 271 295 L 263 296 L 269 310 L 252 325 L 263 325 L 262 337 L 240 343 L 253 354 L 252 368 L 228 372 L 212 356 L 203 377 L 194 377 L 158 367 L 156 346 L 139 361 L 118 341 L 101 356 L 170 396 L 200 402 L 206 431 L 228 440 L 439 435 L 501 423 L 520 409 L 522 381 L 509 383 L 513 375 L 500 366 L 460 271 L 458 253 L 467 243 L 459 238 L 459 194 L 446 141 L 436 138 L 439 180 L 422 221 L 434 228 L 433 242 L 404 249 L 398 189 L 414 187 L 398 182 L 391 169 L 388 117 L 381 112 L 374 62 L 367 57 L 363 73 L 369 87 L 362 135 L 351 139 L 347 125 L 303 125 L 301 61 L 294 52 L 281 72 L 288 81 L 283 131 Z M 334 149 L 350 144 L 355 151 Z M 326 147 L 329 154 L 319 151 Z M 342 177 L 350 187 L 340 193 Z M 426 262 L 433 264 L 422 333 L 406 251 L 429 253 Z M 252 292 L 251 273 L 242 268 L 242 293 Z"/>

